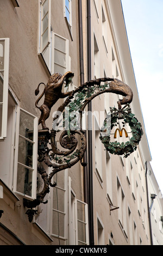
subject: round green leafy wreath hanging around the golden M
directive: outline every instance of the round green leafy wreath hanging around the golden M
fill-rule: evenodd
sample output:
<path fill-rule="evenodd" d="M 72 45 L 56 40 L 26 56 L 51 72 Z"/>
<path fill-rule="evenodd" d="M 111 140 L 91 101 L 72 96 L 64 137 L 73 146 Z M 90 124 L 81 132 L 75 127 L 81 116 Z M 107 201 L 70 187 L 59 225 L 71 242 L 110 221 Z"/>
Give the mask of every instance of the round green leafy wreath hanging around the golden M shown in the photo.
<path fill-rule="evenodd" d="M 116 108 L 110 108 L 111 111 L 111 130 L 114 126 L 117 126 L 117 119 L 118 114 L 120 111 Z M 133 153 L 137 149 L 137 145 L 139 144 L 141 137 L 143 135 L 143 131 L 141 128 L 141 124 L 139 121 L 135 118 L 135 115 L 131 113 L 131 109 L 129 107 L 129 104 L 124 106 L 121 109 L 121 115 L 122 119 L 124 119 L 123 126 L 125 124 L 129 124 L 131 133 L 133 137 L 130 138 L 130 141 L 127 141 L 126 143 L 122 142 L 110 142 L 110 135 L 109 136 L 100 136 L 102 143 L 104 144 L 107 151 L 109 151 L 111 154 L 115 155 L 124 155 L 124 157 L 128 157 L 131 153 Z M 106 119 L 104 121 L 104 125 L 101 129 L 101 134 L 104 131 L 107 131 L 109 127 L 106 127 Z"/>

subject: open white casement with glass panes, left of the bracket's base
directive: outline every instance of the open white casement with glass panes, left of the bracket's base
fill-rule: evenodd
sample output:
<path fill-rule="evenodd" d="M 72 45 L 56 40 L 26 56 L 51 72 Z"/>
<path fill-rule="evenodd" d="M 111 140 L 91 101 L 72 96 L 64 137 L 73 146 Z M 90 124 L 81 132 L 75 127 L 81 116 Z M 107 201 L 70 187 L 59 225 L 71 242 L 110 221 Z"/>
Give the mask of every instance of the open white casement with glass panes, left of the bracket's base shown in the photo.
<path fill-rule="evenodd" d="M 37 117 L 17 107 L 14 191 L 24 197 L 36 198 Z"/>

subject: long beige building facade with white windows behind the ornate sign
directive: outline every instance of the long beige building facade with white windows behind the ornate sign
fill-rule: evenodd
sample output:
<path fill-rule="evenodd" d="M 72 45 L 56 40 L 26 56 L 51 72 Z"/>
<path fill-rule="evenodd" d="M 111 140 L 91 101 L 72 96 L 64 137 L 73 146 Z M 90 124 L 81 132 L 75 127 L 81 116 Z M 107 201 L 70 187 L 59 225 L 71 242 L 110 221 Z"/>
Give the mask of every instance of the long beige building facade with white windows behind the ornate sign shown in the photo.
<path fill-rule="evenodd" d="M 146 184 L 151 154 L 121 1 L 1 0 L 0 13 L 0 244 L 151 245 Z M 99 140 L 100 127 L 121 96 L 105 93 L 93 99 L 84 117 L 87 166 L 78 162 L 58 172 L 53 178 L 57 186 L 50 187 L 29 222 L 24 199 L 34 200 L 43 186 L 37 173 L 41 124 L 35 89 L 52 74 L 67 71 L 74 77 L 63 92 L 99 77 L 128 84 L 134 93 L 131 111 L 143 136 L 127 158 L 108 153 Z M 51 109 L 49 129 L 64 100 Z M 119 142 L 123 139 L 117 134 Z M 46 164 L 44 168 L 52 172 Z"/>

